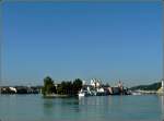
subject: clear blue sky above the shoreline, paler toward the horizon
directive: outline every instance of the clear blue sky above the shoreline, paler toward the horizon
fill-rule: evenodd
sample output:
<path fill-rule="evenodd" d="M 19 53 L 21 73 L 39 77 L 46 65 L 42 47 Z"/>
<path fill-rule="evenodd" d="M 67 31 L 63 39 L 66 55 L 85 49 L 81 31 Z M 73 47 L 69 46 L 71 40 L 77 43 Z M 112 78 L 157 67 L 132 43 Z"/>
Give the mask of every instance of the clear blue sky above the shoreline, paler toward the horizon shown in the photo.
<path fill-rule="evenodd" d="M 160 2 L 5 2 L 7 84 L 102 78 L 147 84 L 162 77 Z"/>

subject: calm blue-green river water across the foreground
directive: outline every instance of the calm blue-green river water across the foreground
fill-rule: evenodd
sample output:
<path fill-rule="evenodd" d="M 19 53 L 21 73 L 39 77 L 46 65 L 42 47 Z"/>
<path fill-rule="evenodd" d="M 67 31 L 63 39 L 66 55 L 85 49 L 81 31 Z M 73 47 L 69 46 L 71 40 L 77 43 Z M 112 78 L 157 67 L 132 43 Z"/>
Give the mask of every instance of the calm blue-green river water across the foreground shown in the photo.
<path fill-rule="evenodd" d="M 1 121 L 163 121 L 164 97 L 0 95 Z"/>

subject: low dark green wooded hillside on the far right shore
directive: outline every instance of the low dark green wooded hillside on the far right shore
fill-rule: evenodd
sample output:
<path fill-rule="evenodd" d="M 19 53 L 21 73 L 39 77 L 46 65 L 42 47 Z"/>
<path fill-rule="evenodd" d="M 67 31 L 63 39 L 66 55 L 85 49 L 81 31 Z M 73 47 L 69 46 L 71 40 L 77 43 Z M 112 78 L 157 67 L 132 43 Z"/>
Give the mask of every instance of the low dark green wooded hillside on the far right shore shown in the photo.
<path fill-rule="evenodd" d="M 139 85 L 139 86 L 133 86 L 130 89 L 136 90 L 136 89 L 142 89 L 142 90 L 157 90 L 161 87 L 161 82 L 153 83 L 150 85 Z"/>

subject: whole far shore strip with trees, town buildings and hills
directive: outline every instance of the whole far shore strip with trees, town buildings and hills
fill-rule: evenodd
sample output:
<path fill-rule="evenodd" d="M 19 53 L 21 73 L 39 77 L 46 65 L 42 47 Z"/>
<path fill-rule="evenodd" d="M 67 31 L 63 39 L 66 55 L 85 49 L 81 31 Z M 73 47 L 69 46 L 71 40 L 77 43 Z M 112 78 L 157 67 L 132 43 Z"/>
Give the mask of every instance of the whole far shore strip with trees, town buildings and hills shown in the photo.
<path fill-rule="evenodd" d="M 117 85 L 104 84 L 101 80 L 92 78 L 90 82 L 75 78 L 74 81 L 62 81 L 57 84 L 51 77 L 44 78 L 42 86 L 0 86 L 1 95 L 13 94 L 42 94 L 44 97 L 68 97 L 68 96 L 107 96 L 107 95 L 141 95 L 163 93 L 164 84 L 139 85 L 125 87 L 121 81 Z"/>

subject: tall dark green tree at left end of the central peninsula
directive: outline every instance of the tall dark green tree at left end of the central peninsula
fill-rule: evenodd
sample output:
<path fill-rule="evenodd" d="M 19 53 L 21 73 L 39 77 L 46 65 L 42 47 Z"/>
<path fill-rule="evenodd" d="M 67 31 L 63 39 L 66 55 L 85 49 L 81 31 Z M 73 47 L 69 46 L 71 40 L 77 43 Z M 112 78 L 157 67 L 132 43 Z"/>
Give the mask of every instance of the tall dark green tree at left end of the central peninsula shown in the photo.
<path fill-rule="evenodd" d="M 56 94 L 56 87 L 51 77 L 47 76 L 44 78 L 44 87 L 42 88 L 43 95 Z"/>

